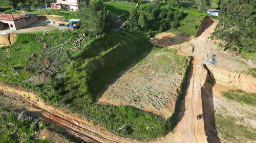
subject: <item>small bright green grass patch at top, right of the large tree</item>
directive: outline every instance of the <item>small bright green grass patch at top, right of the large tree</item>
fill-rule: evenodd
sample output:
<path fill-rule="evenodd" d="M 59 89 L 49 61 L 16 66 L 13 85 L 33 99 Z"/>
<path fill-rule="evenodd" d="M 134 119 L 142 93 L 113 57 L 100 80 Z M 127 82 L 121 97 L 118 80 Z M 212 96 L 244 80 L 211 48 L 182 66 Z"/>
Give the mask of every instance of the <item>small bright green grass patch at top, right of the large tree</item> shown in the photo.
<path fill-rule="evenodd" d="M 130 16 L 130 11 L 132 7 L 135 7 L 134 5 L 129 5 L 129 4 L 125 4 L 125 3 L 119 3 L 119 2 L 103 2 L 104 4 L 106 4 L 106 8 L 117 15 L 123 15 L 123 12 L 125 12 L 124 14 L 124 18 L 128 19 Z"/>

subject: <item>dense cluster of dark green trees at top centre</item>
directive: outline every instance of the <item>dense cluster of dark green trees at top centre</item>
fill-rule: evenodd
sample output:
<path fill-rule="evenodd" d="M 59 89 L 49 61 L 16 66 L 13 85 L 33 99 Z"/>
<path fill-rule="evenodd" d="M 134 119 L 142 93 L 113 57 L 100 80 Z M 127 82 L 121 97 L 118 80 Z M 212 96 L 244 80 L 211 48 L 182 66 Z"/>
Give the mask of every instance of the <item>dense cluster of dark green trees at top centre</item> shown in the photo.
<path fill-rule="evenodd" d="M 160 1 L 149 5 L 133 7 L 130 12 L 128 26 L 132 31 L 166 31 L 177 28 L 180 20 L 185 17 L 183 11 L 174 9 L 179 1 L 171 0 L 167 7 L 162 7 Z"/>

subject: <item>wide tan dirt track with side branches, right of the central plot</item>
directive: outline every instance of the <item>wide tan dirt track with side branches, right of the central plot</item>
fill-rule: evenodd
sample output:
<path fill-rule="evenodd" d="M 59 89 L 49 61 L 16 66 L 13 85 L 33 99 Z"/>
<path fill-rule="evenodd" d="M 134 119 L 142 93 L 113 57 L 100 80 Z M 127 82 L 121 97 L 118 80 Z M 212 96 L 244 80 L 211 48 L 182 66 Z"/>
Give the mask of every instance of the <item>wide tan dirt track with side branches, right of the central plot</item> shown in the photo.
<path fill-rule="evenodd" d="M 194 57 L 193 67 L 189 75 L 188 90 L 183 101 L 184 106 L 181 106 L 179 123 L 175 132 L 171 132 L 155 142 L 220 142 L 218 138 L 211 134 L 211 131 L 214 129 L 209 122 L 211 121 L 210 118 L 214 116 L 212 86 L 205 82 L 207 71 L 199 70 L 198 67 L 198 64 L 205 63 L 207 54 L 216 54 L 218 64 L 216 67 L 210 68 L 214 72 L 212 74 L 217 74 L 217 81 L 221 84 L 236 86 L 247 92 L 255 92 L 255 78 L 241 74 L 250 67 L 238 62 L 241 60 L 238 56 L 230 56 L 228 53 L 221 52 L 218 50 L 218 47 L 209 41 L 208 37 L 214 31 L 216 25 L 217 22 L 207 23 L 204 26 L 203 33 L 199 37 L 191 40 L 185 37 L 182 41 L 178 40 L 179 42 L 175 43 L 172 41 L 176 41 L 176 38 L 180 39 L 180 36 L 170 33 L 163 33 L 161 34 L 163 36 L 156 36 L 156 38 L 159 38 L 157 40 L 152 39 L 153 44 L 176 48 L 179 54 Z M 170 42 L 171 44 L 168 44 Z M 194 51 L 192 49 L 193 45 Z M 255 65 L 252 65 L 252 67 L 255 67 Z M 241 84 L 246 85 L 243 86 Z M 203 120 L 196 120 L 196 115 L 199 113 L 204 113 L 203 116 L 205 117 L 203 117 Z"/>

